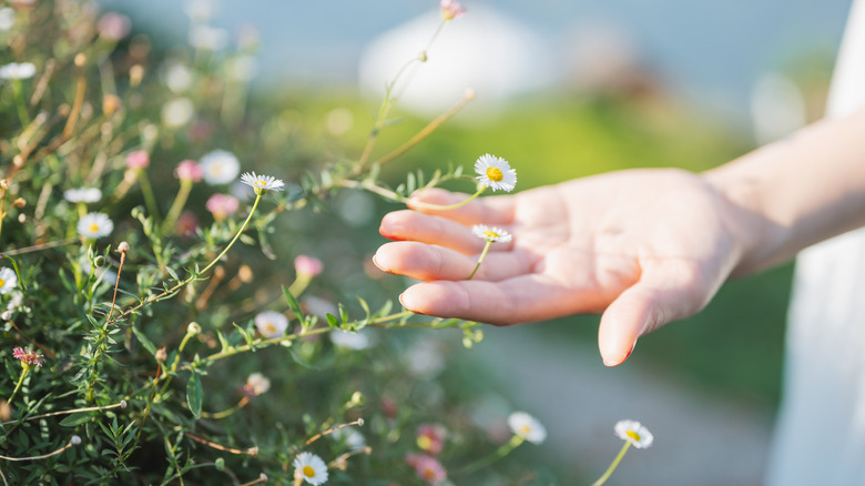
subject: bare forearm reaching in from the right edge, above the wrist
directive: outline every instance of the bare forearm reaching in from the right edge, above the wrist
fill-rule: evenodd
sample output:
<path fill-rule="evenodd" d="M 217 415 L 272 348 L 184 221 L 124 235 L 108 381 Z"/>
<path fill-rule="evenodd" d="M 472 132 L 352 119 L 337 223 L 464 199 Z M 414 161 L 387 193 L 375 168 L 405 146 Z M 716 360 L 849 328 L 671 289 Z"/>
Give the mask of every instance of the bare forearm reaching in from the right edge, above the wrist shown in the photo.
<path fill-rule="evenodd" d="M 823 120 L 704 174 L 731 203 L 735 274 L 865 225 L 865 110 Z"/>

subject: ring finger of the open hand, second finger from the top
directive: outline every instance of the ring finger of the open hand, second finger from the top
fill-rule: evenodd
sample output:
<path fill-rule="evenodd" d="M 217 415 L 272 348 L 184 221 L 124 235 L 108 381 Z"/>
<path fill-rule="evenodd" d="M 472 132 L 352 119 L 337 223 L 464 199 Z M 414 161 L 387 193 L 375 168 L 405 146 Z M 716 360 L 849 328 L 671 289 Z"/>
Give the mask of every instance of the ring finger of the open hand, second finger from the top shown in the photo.
<path fill-rule="evenodd" d="M 478 254 L 486 243 L 464 224 L 416 211 L 395 211 L 386 214 L 378 232 L 388 240 L 417 241 L 446 246 L 464 254 Z M 490 251 L 501 252 L 510 247 L 511 242 L 500 242 L 493 244 Z"/>

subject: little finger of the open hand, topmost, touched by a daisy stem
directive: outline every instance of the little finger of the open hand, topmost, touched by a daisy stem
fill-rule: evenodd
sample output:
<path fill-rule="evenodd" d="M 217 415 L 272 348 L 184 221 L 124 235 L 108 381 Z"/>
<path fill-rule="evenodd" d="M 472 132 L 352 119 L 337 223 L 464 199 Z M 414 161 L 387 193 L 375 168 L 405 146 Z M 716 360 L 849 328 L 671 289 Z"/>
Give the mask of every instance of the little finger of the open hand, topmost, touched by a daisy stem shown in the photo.
<path fill-rule="evenodd" d="M 438 210 L 425 205 L 457 204 L 468 198 L 469 194 L 445 191 L 444 189 L 424 189 L 411 194 L 407 205 L 421 213 L 445 216 L 462 224 L 510 224 L 513 221 L 513 198 L 508 195 L 478 198 L 452 210 Z"/>

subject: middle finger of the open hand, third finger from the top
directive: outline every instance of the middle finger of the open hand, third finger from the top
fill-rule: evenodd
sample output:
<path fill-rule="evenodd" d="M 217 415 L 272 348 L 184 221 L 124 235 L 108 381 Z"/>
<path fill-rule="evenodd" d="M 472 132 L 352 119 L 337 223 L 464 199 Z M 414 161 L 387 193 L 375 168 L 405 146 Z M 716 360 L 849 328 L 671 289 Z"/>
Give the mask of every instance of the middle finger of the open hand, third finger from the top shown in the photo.
<path fill-rule="evenodd" d="M 373 256 L 373 263 L 385 272 L 411 279 L 460 281 L 468 279 L 475 270 L 478 256 L 424 243 L 394 242 L 381 245 Z M 490 253 L 474 279 L 500 281 L 525 274 L 531 266 L 523 252 Z"/>

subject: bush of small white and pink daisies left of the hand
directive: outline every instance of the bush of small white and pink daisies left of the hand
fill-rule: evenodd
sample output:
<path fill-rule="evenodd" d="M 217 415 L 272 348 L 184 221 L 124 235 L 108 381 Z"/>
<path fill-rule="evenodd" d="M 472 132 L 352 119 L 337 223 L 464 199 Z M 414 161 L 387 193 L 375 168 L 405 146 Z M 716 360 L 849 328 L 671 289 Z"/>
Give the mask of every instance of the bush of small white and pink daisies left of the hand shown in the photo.
<path fill-rule="evenodd" d="M 444 26 L 464 9 L 441 11 Z M 471 94 L 374 159 L 404 70 L 360 154 L 328 160 L 298 149 L 278 107 L 247 102 L 254 36 L 228 48 L 191 16 L 192 45 L 161 53 L 91 2 L 0 8 L 2 480 L 461 483 L 542 441 L 528 415 L 490 439 L 465 404 L 427 393 L 448 344 L 397 330 L 455 328 L 470 347 L 477 323 L 394 308 L 328 240 L 352 230 L 309 223 L 340 191 L 403 203 L 474 182 L 458 168 L 378 178 Z M 469 199 L 513 189 L 503 160 L 478 166 Z"/>

